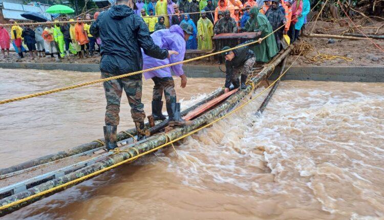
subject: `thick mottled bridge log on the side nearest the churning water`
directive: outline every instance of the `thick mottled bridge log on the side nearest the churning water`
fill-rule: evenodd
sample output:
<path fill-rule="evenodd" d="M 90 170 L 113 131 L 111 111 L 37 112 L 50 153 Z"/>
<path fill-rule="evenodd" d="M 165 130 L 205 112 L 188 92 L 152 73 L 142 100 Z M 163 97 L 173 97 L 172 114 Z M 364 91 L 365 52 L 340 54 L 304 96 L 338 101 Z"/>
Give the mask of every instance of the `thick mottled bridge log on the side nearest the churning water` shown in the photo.
<path fill-rule="evenodd" d="M 276 58 L 273 62 L 271 62 L 269 65 L 267 65 L 258 76 L 254 77 L 252 81 L 254 84 L 259 84 L 264 78 L 268 77 L 273 71 L 276 65 L 282 62 L 284 58 L 286 58 L 289 53 L 291 52 L 292 48 L 288 48 L 284 53 L 282 53 L 278 58 Z M 178 127 L 175 128 L 167 133 L 167 136 L 174 140 L 178 137 L 181 137 L 182 135 L 185 135 L 189 133 L 190 131 L 204 125 L 205 123 L 211 121 L 212 119 L 218 117 L 220 114 L 225 112 L 226 110 L 233 107 L 233 105 L 238 104 L 242 98 L 244 98 L 247 94 L 252 92 L 252 86 L 248 85 L 245 90 L 240 90 L 239 92 L 233 94 L 231 97 L 229 97 L 226 101 L 224 101 L 222 104 L 218 105 L 216 108 L 211 109 L 207 113 L 203 114 L 202 116 L 196 118 L 193 120 L 193 123 L 191 125 L 185 126 L 185 127 Z M 157 146 L 160 146 L 162 144 L 167 143 L 167 137 L 165 135 L 159 135 L 158 137 L 153 136 L 152 139 L 138 145 L 136 148 L 138 149 L 139 153 L 143 153 L 145 151 L 154 149 Z M 8 196 L 2 200 L 0 200 L 0 204 L 2 206 L 10 204 L 12 202 L 15 202 L 17 200 L 24 199 L 25 197 L 31 196 L 33 194 L 46 191 L 48 189 L 51 189 L 55 186 L 59 186 L 65 183 L 68 183 L 70 181 L 76 180 L 80 177 L 83 177 L 84 175 L 88 175 L 90 173 L 93 173 L 95 171 L 101 170 L 105 167 L 112 166 L 113 164 L 117 164 L 121 161 L 124 161 L 128 158 L 131 158 L 131 154 L 133 156 L 136 156 L 137 153 L 135 150 L 130 149 L 131 153 L 122 151 L 119 153 L 116 153 L 115 155 L 111 156 L 110 158 L 104 159 L 100 162 L 97 162 L 91 166 L 84 167 L 82 169 L 76 170 L 72 173 L 68 173 L 66 175 L 63 175 L 60 178 L 57 178 L 55 180 L 50 180 L 48 182 L 42 183 L 40 185 L 37 185 L 35 187 L 32 187 L 30 189 L 27 189 L 23 192 Z M 78 183 L 77 183 L 78 184 Z M 44 197 L 47 197 L 49 195 L 52 195 L 54 193 L 57 193 L 59 191 L 62 191 L 64 189 L 58 189 L 57 191 L 51 192 L 50 194 L 46 194 L 44 196 L 37 196 L 33 200 L 28 200 L 24 203 L 17 204 L 15 206 L 12 206 L 10 208 L 4 209 L 0 211 L 0 217 L 4 216 L 6 214 L 9 214 L 11 212 L 14 212 L 20 208 L 23 208 L 27 205 L 30 205 L 38 200 L 43 199 Z"/>

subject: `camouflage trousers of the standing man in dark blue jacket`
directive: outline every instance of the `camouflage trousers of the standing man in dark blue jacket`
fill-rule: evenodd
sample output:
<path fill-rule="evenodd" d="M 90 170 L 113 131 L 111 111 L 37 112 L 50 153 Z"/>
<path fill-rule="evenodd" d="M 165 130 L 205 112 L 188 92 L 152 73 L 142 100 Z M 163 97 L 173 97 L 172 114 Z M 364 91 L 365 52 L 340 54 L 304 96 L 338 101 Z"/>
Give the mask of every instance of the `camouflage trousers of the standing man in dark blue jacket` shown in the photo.
<path fill-rule="evenodd" d="M 116 76 L 101 72 L 101 78 Z M 123 89 L 131 106 L 133 121 L 143 121 L 145 118 L 144 104 L 141 103 L 143 82 L 140 79 L 121 78 L 103 82 L 106 98 L 105 125 L 118 125 L 120 122 L 120 101 Z"/>

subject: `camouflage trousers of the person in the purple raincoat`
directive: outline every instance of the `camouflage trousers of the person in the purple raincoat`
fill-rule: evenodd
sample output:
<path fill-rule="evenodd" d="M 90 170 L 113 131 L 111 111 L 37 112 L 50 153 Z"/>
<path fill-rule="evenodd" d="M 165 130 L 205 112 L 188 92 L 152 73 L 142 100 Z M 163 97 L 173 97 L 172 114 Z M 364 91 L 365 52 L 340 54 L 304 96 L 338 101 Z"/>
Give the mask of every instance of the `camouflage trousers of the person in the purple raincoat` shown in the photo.
<path fill-rule="evenodd" d="M 155 85 L 153 86 L 153 100 L 161 101 L 163 97 L 163 92 L 165 96 L 165 101 L 167 104 L 176 103 L 176 91 L 175 91 L 175 82 L 172 77 L 153 77 Z"/>

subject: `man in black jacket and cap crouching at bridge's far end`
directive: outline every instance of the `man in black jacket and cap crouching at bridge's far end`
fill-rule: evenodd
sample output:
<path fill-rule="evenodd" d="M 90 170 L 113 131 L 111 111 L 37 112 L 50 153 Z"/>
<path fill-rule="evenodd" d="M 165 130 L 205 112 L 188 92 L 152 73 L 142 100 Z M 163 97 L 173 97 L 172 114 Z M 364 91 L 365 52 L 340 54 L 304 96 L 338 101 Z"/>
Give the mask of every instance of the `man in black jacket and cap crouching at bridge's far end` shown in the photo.
<path fill-rule="evenodd" d="M 243 44 L 253 42 L 253 40 L 245 41 Z M 240 45 L 238 45 L 240 46 Z M 230 47 L 224 47 L 222 51 L 228 50 Z M 252 67 L 256 61 L 254 53 L 249 49 L 249 46 L 244 46 L 231 51 L 223 52 L 223 58 L 225 58 L 225 89 L 224 93 L 229 92 L 231 83 L 234 89 L 240 86 L 239 76 L 241 75 L 241 89 L 246 89 L 245 82 L 247 81 L 248 74 L 251 72 Z"/>

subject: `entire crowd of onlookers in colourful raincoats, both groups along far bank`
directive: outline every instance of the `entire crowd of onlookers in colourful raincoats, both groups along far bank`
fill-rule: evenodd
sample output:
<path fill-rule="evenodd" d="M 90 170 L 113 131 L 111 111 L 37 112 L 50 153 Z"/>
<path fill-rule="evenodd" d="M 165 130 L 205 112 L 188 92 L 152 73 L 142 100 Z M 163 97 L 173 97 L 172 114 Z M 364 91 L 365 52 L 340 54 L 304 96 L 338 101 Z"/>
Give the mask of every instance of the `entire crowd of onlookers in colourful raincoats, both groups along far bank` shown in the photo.
<path fill-rule="evenodd" d="M 268 37 L 260 46 L 252 47 L 260 62 L 268 62 L 283 49 L 284 34 L 289 36 L 290 42 L 299 38 L 310 10 L 309 0 L 137 0 L 135 6 L 134 12 L 143 18 L 150 34 L 169 29 L 172 25 L 191 25 L 193 34 L 185 49 L 192 50 L 212 50 L 212 37 L 217 34 L 257 32 L 262 38 L 285 25 L 274 33 L 274 39 Z M 93 18 L 98 15 L 99 12 L 96 12 Z M 62 21 L 67 20 L 62 18 Z M 85 20 L 91 20 L 91 15 L 87 14 Z M 81 58 L 93 56 L 95 51 L 100 52 L 101 40 L 90 33 L 91 21 L 47 23 L 45 27 L 25 25 L 24 28 L 12 19 L 9 23 L 13 24 L 10 35 L 4 27 L 0 27 L 0 47 L 4 57 L 9 56 L 10 39 L 19 58 L 23 58 L 26 51 L 23 43 L 31 57 L 42 57 L 47 53 L 56 60 L 70 54 Z M 218 50 L 224 46 L 236 46 L 233 40 L 216 43 Z"/>

